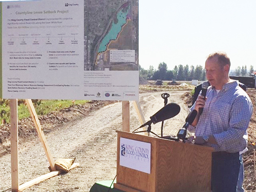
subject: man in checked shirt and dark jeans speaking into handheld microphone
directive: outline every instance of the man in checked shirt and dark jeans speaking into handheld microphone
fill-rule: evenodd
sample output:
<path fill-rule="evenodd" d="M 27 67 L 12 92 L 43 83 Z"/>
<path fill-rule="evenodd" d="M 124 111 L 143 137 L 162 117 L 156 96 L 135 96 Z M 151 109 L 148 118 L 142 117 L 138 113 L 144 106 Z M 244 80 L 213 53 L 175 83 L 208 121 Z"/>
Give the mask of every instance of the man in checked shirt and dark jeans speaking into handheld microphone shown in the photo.
<path fill-rule="evenodd" d="M 252 103 L 239 87 L 238 81 L 229 79 L 230 59 L 225 53 L 212 53 L 205 62 L 206 78 L 210 83 L 206 99 L 199 96 L 192 110 L 198 113 L 191 124 L 195 128 L 196 144 L 214 147 L 212 153 L 211 187 L 214 192 L 235 192 L 240 160 L 247 141 L 246 135 Z M 189 127 L 191 130 L 193 127 Z"/>

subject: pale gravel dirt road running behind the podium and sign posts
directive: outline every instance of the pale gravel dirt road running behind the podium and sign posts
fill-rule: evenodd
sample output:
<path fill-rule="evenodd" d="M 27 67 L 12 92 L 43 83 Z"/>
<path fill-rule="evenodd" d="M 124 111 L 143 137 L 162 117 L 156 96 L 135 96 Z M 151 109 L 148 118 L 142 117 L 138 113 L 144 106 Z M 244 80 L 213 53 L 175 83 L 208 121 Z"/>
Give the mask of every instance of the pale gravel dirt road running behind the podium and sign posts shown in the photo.
<path fill-rule="evenodd" d="M 185 123 L 188 108 L 180 98 L 187 91 L 168 92 L 169 102 L 176 102 L 181 112 L 168 119 L 164 124 L 164 135 L 176 135 Z M 161 94 L 140 94 L 140 106 L 145 119 L 155 114 L 164 106 Z M 133 102 L 130 104 L 131 131 L 139 127 L 140 123 Z M 46 134 L 54 160 L 59 158 L 74 158 L 80 166 L 72 169 L 68 174 L 62 174 L 34 185 L 24 191 L 89 191 L 91 186 L 101 180 L 113 180 L 116 175 L 116 130 L 122 127 L 121 102 L 104 106 L 94 111 L 82 120 L 66 123 L 54 131 Z M 152 125 L 152 131 L 161 133 L 161 123 Z M 11 156 L 0 158 L 0 191 L 11 187 Z M 19 183 L 30 181 L 49 173 L 44 150 L 39 140 L 19 145 Z M 6 190 L 10 191 L 10 190 Z"/>

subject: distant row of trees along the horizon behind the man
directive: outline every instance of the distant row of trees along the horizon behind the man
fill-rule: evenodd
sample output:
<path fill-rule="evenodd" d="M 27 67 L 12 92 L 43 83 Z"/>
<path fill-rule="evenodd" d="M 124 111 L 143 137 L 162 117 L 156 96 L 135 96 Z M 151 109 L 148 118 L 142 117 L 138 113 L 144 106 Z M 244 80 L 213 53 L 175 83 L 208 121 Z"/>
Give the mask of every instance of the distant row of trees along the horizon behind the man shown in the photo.
<path fill-rule="evenodd" d="M 139 66 L 140 77 L 143 77 L 146 80 L 184 80 L 191 81 L 192 79 L 197 79 L 200 81 L 206 80 L 205 70 L 201 65 L 188 66 L 188 65 L 178 65 L 175 66 L 173 70 L 168 70 L 167 64 L 161 62 L 158 65 L 158 69 L 154 69 L 153 66 L 150 66 L 148 70 Z M 250 76 L 253 72 L 253 66 L 250 66 L 247 71 L 246 66 L 238 67 L 234 71 L 230 71 L 230 76 Z"/>

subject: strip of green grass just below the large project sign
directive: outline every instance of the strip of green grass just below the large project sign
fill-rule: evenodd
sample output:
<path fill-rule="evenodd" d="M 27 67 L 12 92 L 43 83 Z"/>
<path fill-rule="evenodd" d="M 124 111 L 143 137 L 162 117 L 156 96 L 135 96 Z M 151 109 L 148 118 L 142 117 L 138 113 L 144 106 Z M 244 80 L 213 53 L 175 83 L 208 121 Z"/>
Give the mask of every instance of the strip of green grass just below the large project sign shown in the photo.
<path fill-rule="evenodd" d="M 52 111 L 60 111 L 74 104 L 84 104 L 88 100 L 32 100 L 37 115 L 46 115 Z M 18 119 L 30 117 L 25 100 L 18 100 Z M 10 107 L 8 99 L 0 99 L 0 123 L 10 122 Z"/>

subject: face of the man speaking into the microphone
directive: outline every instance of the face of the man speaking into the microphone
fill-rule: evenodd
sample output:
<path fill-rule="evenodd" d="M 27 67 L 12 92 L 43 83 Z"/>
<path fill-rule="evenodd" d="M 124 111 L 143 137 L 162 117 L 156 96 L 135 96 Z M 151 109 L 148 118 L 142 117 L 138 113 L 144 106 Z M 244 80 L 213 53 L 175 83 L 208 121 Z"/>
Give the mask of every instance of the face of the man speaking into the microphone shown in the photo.
<path fill-rule="evenodd" d="M 221 90 L 225 84 L 225 67 L 221 67 L 217 58 L 213 57 L 207 59 L 205 62 L 206 78 L 210 82 L 211 86 L 215 87 L 217 90 Z"/>

